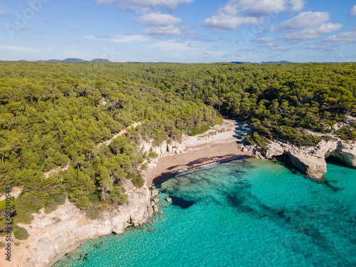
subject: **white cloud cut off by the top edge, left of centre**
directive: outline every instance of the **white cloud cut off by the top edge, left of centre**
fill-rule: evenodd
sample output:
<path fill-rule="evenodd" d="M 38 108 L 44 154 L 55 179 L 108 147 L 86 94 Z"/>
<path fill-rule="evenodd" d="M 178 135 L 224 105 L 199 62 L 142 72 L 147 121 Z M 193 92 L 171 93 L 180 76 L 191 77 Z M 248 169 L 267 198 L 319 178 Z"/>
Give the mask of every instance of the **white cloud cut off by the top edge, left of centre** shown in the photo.
<path fill-rule="evenodd" d="M 189 4 L 194 0 L 95 0 L 98 4 L 124 4 L 131 6 L 164 6 L 167 9 L 177 9 L 181 4 Z"/>

